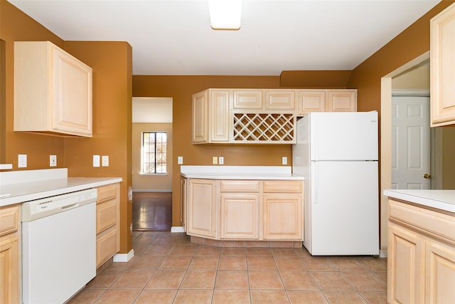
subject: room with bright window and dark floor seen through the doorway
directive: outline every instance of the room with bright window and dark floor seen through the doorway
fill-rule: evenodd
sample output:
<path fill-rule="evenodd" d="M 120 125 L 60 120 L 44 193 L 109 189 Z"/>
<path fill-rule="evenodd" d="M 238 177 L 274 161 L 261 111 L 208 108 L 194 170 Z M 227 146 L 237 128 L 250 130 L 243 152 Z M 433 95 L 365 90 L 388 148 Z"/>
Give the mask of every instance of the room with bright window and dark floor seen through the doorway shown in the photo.
<path fill-rule="evenodd" d="M 172 226 L 172 98 L 133 98 L 134 231 Z"/>

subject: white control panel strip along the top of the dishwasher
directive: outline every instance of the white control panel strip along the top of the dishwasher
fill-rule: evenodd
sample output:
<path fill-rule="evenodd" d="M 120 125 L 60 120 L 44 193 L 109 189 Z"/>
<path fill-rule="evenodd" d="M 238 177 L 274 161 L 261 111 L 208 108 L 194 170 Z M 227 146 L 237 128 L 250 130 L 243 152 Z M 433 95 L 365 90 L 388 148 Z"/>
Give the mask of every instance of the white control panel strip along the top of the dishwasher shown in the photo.
<path fill-rule="evenodd" d="M 22 204 L 22 221 L 34 221 L 78 206 L 95 203 L 97 196 L 97 189 L 87 189 L 26 201 Z"/>

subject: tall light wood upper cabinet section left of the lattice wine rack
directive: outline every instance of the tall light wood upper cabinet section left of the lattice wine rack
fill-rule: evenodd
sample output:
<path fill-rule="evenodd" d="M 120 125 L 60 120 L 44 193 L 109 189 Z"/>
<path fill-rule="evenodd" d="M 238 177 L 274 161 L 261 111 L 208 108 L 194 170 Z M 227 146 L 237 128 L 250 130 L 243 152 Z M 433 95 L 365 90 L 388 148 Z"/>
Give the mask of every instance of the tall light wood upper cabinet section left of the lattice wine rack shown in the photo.
<path fill-rule="evenodd" d="M 229 90 L 208 89 L 193 95 L 193 144 L 230 140 Z"/>

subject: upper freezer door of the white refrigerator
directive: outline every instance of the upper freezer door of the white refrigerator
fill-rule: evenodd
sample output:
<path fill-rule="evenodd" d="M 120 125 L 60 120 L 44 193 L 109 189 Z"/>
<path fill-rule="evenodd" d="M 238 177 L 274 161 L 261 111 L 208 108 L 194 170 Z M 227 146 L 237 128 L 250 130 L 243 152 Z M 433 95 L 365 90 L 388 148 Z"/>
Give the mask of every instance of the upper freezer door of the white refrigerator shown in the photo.
<path fill-rule="evenodd" d="M 378 112 L 309 115 L 311 160 L 378 160 Z"/>

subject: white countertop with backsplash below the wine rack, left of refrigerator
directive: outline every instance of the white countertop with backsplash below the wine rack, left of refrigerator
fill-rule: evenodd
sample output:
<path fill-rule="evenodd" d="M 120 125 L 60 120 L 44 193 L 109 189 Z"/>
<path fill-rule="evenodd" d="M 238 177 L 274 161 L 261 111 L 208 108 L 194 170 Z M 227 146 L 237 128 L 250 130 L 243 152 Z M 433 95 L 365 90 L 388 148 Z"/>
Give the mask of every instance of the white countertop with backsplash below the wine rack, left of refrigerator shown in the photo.
<path fill-rule="evenodd" d="M 181 176 L 194 179 L 304 180 L 290 166 L 181 166 Z"/>

